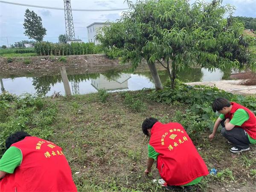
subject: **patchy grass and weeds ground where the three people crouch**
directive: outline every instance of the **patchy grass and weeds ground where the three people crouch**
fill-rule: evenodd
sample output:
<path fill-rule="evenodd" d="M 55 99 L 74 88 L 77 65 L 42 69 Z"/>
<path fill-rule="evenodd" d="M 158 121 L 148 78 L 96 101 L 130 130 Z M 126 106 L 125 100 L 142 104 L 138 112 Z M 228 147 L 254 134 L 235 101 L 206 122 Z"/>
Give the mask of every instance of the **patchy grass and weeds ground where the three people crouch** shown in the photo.
<path fill-rule="evenodd" d="M 160 178 L 155 165 L 151 175 L 144 175 L 148 138 L 144 137 L 141 124 L 148 116 L 157 117 L 161 122 L 180 118 L 175 116 L 176 111 L 185 113 L 189 105 L 154 102 L 148 99 L 149 92 L 128 92 L 126 102 L 123 94 L 110 93 L 105 103 L 98 93 L 45 99 L 5 96 L 2 100 L 7 105 L 3 105 L 0 111 L 2 116 L 11 115 L 9 132 L 14 131 L 19 123 L 31 134 L 48 138 L 63 148 L 79 192 L 164 192 L 159 185 L 152 183 L 153 179 Z M 134 111 L 130 107 L 131 100 L 142 102 L 146 110 Z M 38 131 L 34 131 L 35 127 Z M 0 143 L 9 132 L 0 132 Z M 222 187 L 230 191 L 234 187 L 253 191 L 256 148 L 251 146 L 246 153 L 231 154 L 230 145 L 225 144 L 221 134 L 216 134 L 209 142 L 210 133 L 209 129 L 201 130 L 194 143 L 200 148 L 198 152 L 207 167 L 217 169 L 219 174 L 205 177 L 197 191 L 218 191 Z"/>

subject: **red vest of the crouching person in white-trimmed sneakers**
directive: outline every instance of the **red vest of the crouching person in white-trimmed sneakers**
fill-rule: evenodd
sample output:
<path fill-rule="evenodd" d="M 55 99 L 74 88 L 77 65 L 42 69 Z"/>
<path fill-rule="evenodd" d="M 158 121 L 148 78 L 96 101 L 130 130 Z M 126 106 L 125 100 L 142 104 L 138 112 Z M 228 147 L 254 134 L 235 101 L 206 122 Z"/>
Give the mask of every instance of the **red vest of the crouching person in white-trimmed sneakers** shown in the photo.
<path fill-rule="evenodd" d="M 225 118 L 229 118 L 230 120 L 233 118 L 234 113 L 236 112 L 236 110 L 238 109 L 243 109 L 244 111 L 246 111 L 249 114 L 249 119 L 244 122 L 241 126 L 236 125 L 236 127 L 240 127 L 242 129 L 244 129 L 247 134 L 252 137 L 254 140 L 256 140 L 256 116 L 255 114 L 250 111 L 250 109 L 244 107 L 243 105 L 239 105 L 238 103 L 235 102 L 231 102 L 231 105 L 233 105 L 230 113 L 225 115 Z"/>

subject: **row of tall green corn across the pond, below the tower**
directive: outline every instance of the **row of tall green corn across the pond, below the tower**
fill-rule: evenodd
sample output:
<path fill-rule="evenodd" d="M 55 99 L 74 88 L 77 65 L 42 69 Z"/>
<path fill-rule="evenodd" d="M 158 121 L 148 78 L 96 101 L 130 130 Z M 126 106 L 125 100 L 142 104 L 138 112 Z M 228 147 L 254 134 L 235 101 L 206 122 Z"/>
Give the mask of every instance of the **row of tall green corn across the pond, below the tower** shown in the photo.
<path fill-rule="evenodd" d="M 59 44 L 50 42 L 38 42 L 35 44 L 35 52 L 38 55 L 87 55 L 101 53 L 100 45 L 93 43 Z"/>

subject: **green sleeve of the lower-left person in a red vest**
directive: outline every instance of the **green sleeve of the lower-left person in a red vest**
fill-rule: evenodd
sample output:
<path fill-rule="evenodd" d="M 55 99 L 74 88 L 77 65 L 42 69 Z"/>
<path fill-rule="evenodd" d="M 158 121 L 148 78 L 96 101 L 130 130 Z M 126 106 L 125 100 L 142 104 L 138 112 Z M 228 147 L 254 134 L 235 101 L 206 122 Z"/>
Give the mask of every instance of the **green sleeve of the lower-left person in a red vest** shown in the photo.
<path fill-rule="evenodd" d="M 0 159 L 0 171 L 6 173 L 13 173 L 17 166 L 20 166 L 22 161 L 22 153 L 20 149 L 16 147 L 10 147 L 3 154 Z"/>

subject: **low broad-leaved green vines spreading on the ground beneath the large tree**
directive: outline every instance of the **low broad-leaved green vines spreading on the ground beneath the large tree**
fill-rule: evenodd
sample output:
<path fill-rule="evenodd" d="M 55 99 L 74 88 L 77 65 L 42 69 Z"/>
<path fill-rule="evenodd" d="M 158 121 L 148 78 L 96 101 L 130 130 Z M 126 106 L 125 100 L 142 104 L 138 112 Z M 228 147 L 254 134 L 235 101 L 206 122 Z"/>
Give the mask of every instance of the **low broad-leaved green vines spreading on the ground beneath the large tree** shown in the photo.
<path fill-rule="evenodd" d="M 180 122 L 193 139 L 200 137 L 200 133 L 205 128 L 213 128 L 218 114 L 212 111 L 212 102 L 218 97 L 237 102 L 256 113 L 255 96 L 233 95 L 217 87 L 198 85 L 192 87 L 180 81 L 176 81 L 175 89 L 164 86 L 163 90 L 152 90 L 148 97 L 166 104 L 186 104 L 187 110 L 183 113 L 178 111 L 172 120 Z"/>

